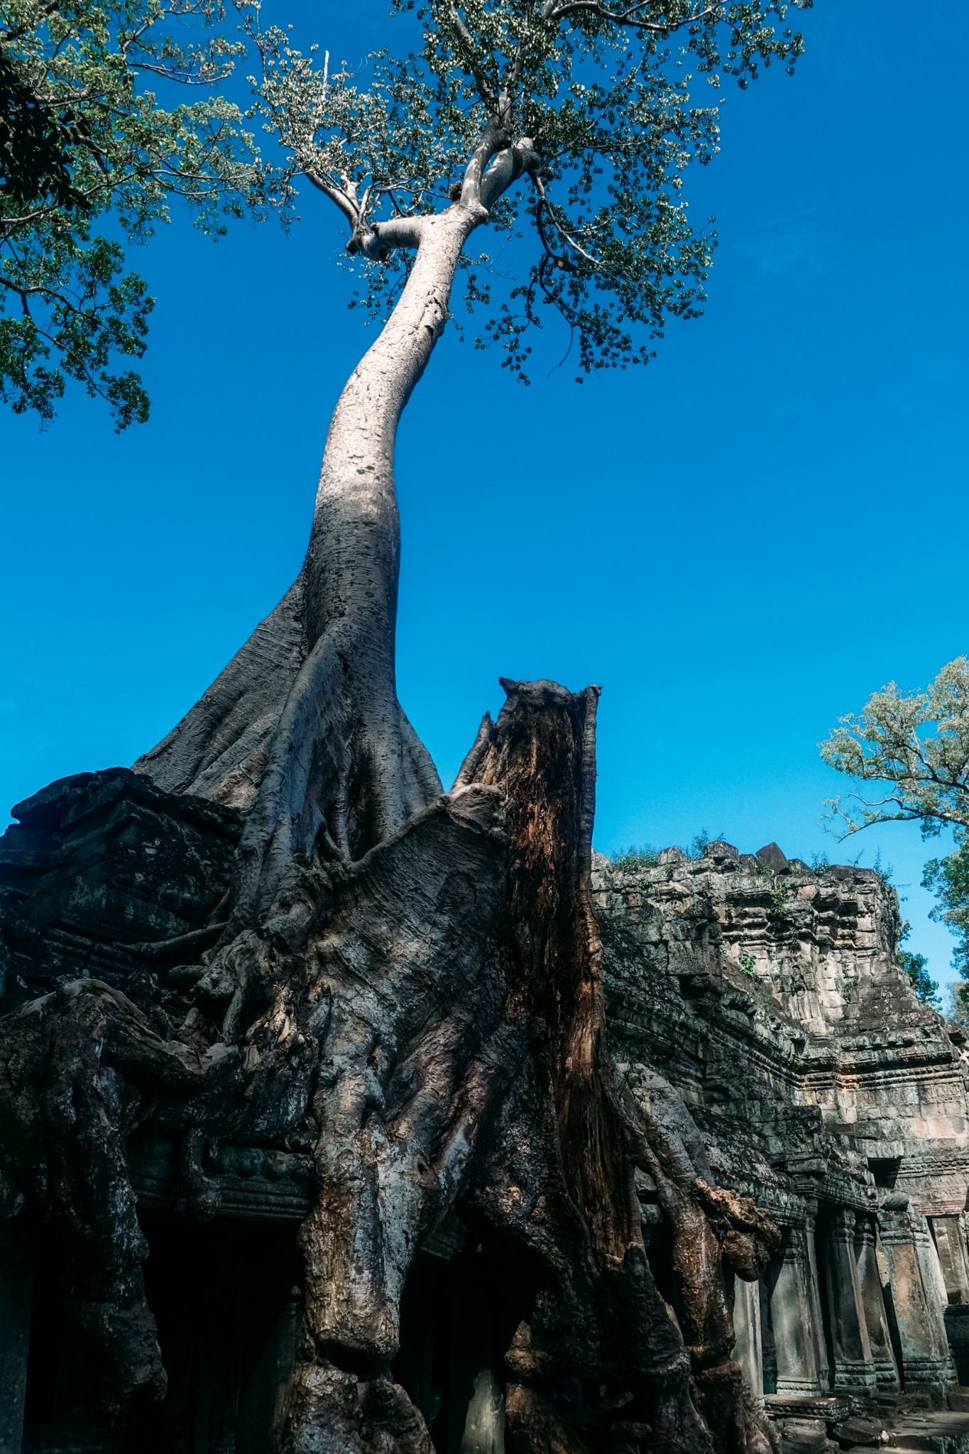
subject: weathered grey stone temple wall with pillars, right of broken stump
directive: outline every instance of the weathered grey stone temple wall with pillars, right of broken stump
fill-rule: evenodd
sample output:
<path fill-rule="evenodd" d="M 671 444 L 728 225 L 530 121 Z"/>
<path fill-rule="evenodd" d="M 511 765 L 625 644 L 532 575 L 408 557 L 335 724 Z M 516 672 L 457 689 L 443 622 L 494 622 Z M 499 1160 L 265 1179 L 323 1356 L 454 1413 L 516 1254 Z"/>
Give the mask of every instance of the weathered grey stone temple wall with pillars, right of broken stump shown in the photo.
<path fill-rule="evenodd" d="M 969 1381 L 968 1064 L 898 964 L 893 890 L 722 842 L 599 858 L 594 887 L 620 1073 L 676 1088 L 721 1184 L 783 1229 L 735 1290 L 754 1390 L 782 1422 L 798 1405 L 805 1447 L 832 1393 L 943 1402 Z"/>

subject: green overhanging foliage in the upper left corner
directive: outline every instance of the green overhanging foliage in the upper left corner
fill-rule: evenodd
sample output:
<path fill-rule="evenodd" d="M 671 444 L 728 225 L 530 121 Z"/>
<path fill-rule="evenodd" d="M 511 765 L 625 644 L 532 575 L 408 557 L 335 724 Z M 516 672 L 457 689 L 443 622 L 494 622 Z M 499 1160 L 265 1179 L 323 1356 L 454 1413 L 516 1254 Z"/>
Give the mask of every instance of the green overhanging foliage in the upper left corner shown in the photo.
<path fill-rule="evenodd" d="M 16 413 L 49 420 L 73 378 L 118 429 L 147 419 L 125 365 L 153 300 L 123 244 L 173 198 L 215 234 L 263 199 L 266 169 L 219 95 L 243 52 L 222 19 L 219 0 L 0 0 L 0 398 Z"/>

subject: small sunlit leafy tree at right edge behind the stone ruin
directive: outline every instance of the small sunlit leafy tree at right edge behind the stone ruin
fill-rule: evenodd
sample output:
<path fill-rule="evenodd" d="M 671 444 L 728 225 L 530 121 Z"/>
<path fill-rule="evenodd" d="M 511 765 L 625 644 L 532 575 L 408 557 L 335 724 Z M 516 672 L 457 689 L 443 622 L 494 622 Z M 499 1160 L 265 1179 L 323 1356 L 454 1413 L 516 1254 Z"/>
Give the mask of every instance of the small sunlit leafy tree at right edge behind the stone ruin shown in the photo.
<path fill-rule="evenodd" d="M 933 917 L 956 935 L 953 965 L 969 980 L 969 660 L 943 666 L 924 692 L 889 682 L 861 712 L 841 717 L 819 747 L 838 772 L 879 784 L 875 797 L 851 792 L 847 808 L 841 798 L 827 803 L 844 838 L 875 823 L 918 823 L 924 839 L 952 830 L 954 852 L 925 864 L 923 885 L 938 896 Z M 938 986 L 924 957 L 899 958 L 915 993 L 933 1003 Z M 954 993 L 969 1008 L 969 986 Z"/>

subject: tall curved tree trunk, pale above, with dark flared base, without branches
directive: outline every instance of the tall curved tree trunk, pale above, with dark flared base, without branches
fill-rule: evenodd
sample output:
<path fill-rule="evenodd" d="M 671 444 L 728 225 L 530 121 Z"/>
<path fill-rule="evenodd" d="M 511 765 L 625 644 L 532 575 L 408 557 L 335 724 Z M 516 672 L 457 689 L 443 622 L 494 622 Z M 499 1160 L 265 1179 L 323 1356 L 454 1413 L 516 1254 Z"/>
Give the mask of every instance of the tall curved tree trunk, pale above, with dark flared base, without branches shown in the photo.
<path fill-rule="evenodd" d="M 455 205 L 421 221 L 401 298 L 333 414 L 298 582 L 135 763 L 158 787 L 248 813 L 234 929 L 272 906 L 293 861 L 360 858 L 440 792 L 397 699 L 394 448 L 479 220 Z"/>

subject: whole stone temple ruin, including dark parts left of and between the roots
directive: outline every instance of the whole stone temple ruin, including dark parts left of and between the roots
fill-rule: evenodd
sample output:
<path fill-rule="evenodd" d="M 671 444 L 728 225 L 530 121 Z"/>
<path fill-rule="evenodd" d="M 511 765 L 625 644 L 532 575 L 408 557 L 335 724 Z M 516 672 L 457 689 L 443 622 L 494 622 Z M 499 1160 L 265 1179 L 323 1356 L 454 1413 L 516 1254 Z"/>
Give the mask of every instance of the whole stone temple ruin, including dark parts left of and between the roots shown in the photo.
<path fill-rule="evenodd" d="M 113 769 L 55 784 L 16 816 L 0 842 L 0 1013 L 64 976 L 128 990 L 174 976 L 177 955 L 158 942 L 211 933 L 234 810 Z M 655 864 L 596 858 L 593 885 L 622 1075 L 676 1102 L 710 1185 L 750 1195 L 782 1229 L 766 1274 L 734 1280 L 734 1325 L 783 1448 L 969 1450 L 966 1040 L 898 965 L 892 890 L 870 869 L 814 872 L 776 845 L 754 856 L 723 842 L 697 859 L 676 848 Z M 203 1226 L 171 1141 L 137 1136 L 128 1162 L 170 1375 L 158 1418 L 182 1431 L 170 1444 L 161 1431 L 160 1445 L 263 1454 L 298 1336 L 308 1149 L 221 1144 L 205 1168 L 219 1208 Z M 639 1198 L 676 1319 L 645 1173 Z M 113 1451 L 86 1412 L 57 1258 L 35 1255 L 16 1200 L 0 1218 L 0 1454 Z M 516 1309 L 494 1285 L 487 1250 L 452 1213 L 405 1288 L 394 1370 L 439 1454 L 501 1445 L 494 1370 Z"/>

